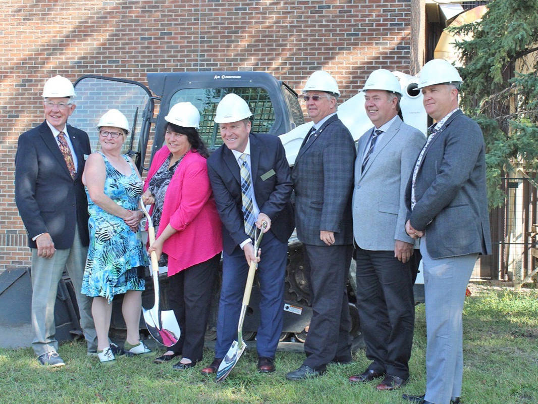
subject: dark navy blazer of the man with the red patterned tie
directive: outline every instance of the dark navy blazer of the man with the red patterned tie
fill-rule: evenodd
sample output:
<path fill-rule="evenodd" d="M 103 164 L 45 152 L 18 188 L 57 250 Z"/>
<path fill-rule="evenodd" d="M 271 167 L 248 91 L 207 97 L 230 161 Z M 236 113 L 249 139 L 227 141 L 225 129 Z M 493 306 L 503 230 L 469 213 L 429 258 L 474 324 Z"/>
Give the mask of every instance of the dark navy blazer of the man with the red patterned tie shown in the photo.
<path fill-rule="evenodd" d="M 90 142 L 80 129 L 68 126 L 67 131 L 77 158 L 74 180 L 46 122 L 19 136 L 15 201 L 31 248 L 37 248 L 32 238 L 40 233 L 49 233 L 55 248 L 70 248 L 75 223 L 82 245 L 88 245 L 88 200 L 81 177 Z"/>

